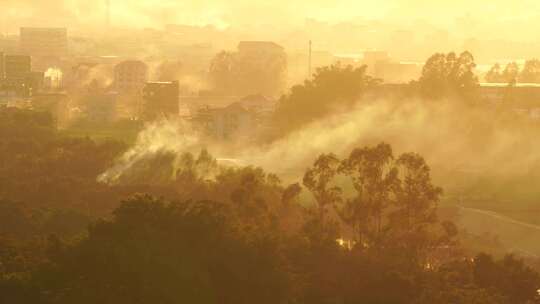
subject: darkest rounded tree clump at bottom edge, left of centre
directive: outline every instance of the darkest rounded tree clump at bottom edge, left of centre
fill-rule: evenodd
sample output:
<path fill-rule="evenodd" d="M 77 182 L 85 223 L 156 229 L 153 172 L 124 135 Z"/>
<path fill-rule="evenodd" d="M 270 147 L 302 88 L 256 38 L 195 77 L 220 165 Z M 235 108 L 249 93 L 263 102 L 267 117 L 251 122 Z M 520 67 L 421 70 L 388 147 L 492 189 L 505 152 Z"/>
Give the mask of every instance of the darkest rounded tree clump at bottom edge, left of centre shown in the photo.
<path fill-rule="evenodd" d="M 276 241 L 244 240 L 226 205 L 135 196 L 63 249 L 45 286 L 55 303 L 280 303 L 289 275 Z M 83 262 L 84 261 L 84 262 Z"/>

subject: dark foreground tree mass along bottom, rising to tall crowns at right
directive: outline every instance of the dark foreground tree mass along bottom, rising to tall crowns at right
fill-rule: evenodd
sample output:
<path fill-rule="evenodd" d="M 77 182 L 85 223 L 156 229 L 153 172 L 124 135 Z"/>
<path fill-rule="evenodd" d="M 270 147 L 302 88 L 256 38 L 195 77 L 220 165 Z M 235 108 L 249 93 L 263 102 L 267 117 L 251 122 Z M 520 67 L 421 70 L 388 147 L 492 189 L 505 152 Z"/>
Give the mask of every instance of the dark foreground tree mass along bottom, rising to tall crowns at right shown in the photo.
<path fill-rule="evenodd" d="M 537 297 L 538 274 L 521 260 L 460 253 L 455 226 L 437 219 L 441 189 L 417 154 L 394 157 L 382 143 L 343 160 L 322 155 L 304 176 L 313 195 L 304 206 L 294 203 L 298 184 L 284 187 L 261 169 L 224 169 L 213 180 L 194 171 L 183 176 L 191 178 L 180 178 L 178 189 L 198 189 L 180 192 L 187 199 L 135 195 L 78 240 L 48 238 L 33 254 L 37 260 L 21 256 L 26 267 L 0 254 L 2 265 L 11 265 L 1 270 L 0 299 L 530 303 Z M 345 191 L 339 179 L 354 190 Z"/>

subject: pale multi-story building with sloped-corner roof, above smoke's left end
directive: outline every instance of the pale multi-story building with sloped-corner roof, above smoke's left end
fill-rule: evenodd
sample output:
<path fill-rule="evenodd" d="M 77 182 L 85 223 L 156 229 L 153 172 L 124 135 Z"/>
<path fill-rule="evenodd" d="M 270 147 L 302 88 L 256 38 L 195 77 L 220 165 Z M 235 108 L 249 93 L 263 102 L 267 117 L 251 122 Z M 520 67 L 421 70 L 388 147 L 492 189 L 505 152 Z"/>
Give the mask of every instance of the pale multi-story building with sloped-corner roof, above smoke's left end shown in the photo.
<path fill-rule="evenodd" d="M 114 84 L 119 93 L 141 93 L 148 82 L 148 66 L 137 60 L 128 60 L 114 68 Z"/>

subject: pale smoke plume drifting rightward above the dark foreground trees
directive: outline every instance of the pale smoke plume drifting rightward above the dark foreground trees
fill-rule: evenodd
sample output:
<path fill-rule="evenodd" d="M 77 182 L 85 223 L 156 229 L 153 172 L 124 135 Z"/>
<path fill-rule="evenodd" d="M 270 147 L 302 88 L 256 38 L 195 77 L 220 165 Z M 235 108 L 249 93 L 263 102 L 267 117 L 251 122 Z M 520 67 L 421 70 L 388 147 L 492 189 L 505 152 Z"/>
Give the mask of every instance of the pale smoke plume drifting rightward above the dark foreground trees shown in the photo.
<path fill-rule="evenodd" d="M 486 114 L 486 109 L 470 109 L 451 101 L 361 102 L 353 110 L 314 122 L 272 144 L 240 148 L 230 142 L 203 140 L 186 122 L 160 121 L 147 126 L 135 145 L 99 180 L 115 182 L 156 153 L 170 152 L 180 157 L 202 148 L 218 159 L 259 166 L 294 179 L 321 153 L 344 157 L 355 147 L 382 141 L 390 143 L 396 154 L 418 152 L 433 167 L 444 171 L 508 174 L 539 163 L 536 151 L 540 147 L 523 146 L 531 134 L 498 125 Z M 521 157 L 512 157 L 518 151 Z"/>

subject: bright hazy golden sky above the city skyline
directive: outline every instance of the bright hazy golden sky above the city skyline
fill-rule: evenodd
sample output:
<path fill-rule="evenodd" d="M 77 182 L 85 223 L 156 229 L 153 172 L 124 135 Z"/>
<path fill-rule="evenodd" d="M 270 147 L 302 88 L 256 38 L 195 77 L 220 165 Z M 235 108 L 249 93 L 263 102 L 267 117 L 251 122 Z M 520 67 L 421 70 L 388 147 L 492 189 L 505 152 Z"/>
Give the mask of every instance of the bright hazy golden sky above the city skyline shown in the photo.
<path fill-rule="evenodd" d="M 67 25 L 74 28 L 102 24 L 106 0 L 0 0 L 4 24 Z M 468 16 L 476 26 L 506 27 L 509 31 L 539 28 L 537 0 L 111 0 L 117 26 L 162 26 L 165 23 L 301 24 L 306 18 L 330 22 L 383 19 L 394 23 L 426 20 L 454 26 L 456 18 Z M 508 29 L 510 27 L 510 29 Z"/>

